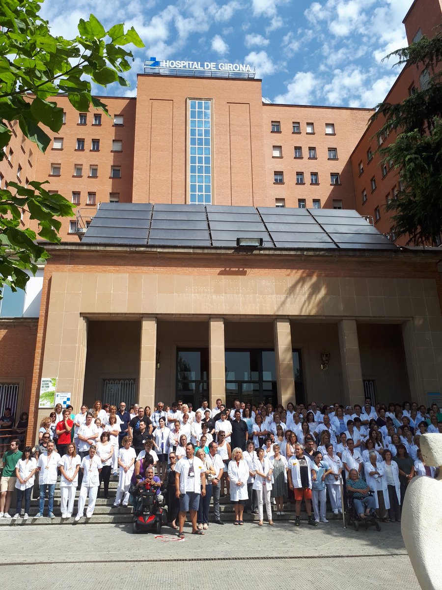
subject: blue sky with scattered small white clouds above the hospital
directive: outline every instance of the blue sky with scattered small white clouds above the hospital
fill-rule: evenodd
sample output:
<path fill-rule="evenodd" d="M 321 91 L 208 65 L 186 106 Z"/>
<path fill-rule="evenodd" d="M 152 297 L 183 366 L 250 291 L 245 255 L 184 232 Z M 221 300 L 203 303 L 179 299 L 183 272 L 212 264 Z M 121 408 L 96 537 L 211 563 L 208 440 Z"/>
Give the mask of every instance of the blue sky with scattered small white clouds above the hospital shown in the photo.
<path fill-rule="evenodd" d="M 413 0 L 76 0 L 70 11 L 45 0 L 42 16 L 52 34 L 72 38 L 80 18 L 93 14 L 108 28 L 134 26 L 146 49 L 134 48 L 131 89 L 110 86 L 97 94 L 136 94 L 136 74 L 158 60 L 248 63 L 271 102 L 374 107 L 397 77 L 385 54 L 407 44 L 402 20 Z M 74 7 L 74 8 L 71 8 Z"/>

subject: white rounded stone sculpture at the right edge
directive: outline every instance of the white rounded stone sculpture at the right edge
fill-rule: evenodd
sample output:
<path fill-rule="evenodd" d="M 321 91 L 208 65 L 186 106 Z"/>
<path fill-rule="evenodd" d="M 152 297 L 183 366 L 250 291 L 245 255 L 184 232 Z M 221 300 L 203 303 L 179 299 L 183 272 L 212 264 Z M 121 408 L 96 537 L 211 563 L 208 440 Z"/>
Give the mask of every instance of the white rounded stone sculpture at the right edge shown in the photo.
<path fill-rule="evenodd" d="M 405 493 L 401 532 L 423 590 L 442 589 L 442 434 L 423 434 L 425 464 L 440 467 L 437 479 L 414 477 Z"/>

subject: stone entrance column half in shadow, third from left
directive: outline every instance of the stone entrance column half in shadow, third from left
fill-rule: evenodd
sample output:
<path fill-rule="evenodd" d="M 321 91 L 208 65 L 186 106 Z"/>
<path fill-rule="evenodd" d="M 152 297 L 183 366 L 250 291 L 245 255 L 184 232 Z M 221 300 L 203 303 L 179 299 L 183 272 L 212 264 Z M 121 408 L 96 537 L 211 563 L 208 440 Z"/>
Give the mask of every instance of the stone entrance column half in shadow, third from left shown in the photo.
<path fill-rule="evenodd" d="M 288 402 L 296 404 L 290 320 L 286 318 L 276 319 L 275 322 L 273 322 L 273 335 L 275 339 L 278 403 L 286 408 Z"/>

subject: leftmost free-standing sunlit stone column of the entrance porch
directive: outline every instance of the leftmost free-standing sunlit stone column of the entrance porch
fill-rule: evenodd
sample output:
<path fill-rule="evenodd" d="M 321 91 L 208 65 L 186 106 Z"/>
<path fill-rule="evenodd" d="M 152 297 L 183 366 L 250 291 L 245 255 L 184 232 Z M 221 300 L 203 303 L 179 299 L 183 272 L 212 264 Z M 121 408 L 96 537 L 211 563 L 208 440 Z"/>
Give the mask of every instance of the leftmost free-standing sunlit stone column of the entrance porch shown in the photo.
<path fill-rule="evenodd" d="M 138 380 L 138 404 L 155 405 L 155 372 L 157 355 L 157 319 L 141 318 L 140 378 Z"/>

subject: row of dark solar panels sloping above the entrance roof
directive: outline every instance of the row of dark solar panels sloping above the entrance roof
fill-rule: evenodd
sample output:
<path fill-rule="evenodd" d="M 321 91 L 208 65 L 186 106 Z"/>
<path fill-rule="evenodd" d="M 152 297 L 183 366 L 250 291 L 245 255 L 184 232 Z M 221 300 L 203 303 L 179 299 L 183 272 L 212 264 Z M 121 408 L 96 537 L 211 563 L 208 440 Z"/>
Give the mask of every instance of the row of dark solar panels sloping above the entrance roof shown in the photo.
<path fill-rule="evenodd" d="M 396 249 L 351 209 L 105 203 L 82 244 L 235 248 L 262 238 L 263 248 Z"/>

